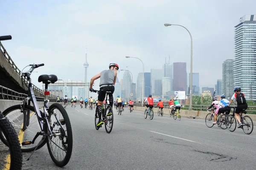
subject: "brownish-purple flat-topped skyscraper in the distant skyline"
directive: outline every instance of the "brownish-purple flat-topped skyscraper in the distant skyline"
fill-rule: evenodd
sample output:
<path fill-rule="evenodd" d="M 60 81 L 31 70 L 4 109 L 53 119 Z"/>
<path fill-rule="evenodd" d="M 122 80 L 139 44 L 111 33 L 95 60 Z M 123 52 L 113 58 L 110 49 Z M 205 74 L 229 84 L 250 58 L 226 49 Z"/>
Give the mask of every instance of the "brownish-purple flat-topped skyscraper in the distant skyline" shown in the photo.
<path fill-rule="evenodd" d="M 186 63 L 173 63 L 173 91 L 187 91 Z"/>

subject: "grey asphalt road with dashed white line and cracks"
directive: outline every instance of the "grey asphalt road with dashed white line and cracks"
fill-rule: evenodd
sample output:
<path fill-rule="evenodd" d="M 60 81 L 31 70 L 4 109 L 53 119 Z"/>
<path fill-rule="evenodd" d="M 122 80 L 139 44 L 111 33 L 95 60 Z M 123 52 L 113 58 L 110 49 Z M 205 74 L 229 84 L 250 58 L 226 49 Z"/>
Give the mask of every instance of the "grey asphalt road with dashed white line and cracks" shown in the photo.
<path fill-rule="evenodd" d="M 67 107 L 73 130 L 73 153 L 63 168 L 52 162 L 47 146 L 23 153 L 23 170 L 255 170 L 256 132 L 241 129 L 230 133 L 216 125 L 208 128 L 201 119 L 174 120 L 155 113 L 153 120 L 143 112 L 122 115 L 114 111 L 113 130 L 94 126 L 94 112 Z M 156 109 L 154 109 L 156 112 Z"/>

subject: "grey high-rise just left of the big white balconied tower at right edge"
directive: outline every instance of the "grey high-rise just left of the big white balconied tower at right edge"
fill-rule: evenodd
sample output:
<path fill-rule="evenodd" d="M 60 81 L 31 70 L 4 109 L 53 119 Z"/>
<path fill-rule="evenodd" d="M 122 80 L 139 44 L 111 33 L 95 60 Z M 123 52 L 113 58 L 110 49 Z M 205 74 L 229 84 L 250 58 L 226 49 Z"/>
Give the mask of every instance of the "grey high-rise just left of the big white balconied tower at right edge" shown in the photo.
<path fill-rule="evenodd" d="M 222 94 L 230 100 L 234 94 L 233 60 L 227 59 L 222 63 Z"/>

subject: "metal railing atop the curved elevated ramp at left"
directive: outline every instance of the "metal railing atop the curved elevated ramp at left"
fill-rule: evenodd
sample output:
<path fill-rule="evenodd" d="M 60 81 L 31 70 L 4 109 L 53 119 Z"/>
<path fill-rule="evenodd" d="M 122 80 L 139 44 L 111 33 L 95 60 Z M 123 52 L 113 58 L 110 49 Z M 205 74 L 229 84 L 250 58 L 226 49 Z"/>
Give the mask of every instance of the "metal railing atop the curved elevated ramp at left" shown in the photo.
<path fill-rule="evenodd" d="M 8 61 L 8 63 L 12 66 L 12 68 L 13 68 L 14 71 L 17 73 L 17 75 L 22 79 L 22 81 L 23 81 L 24 83 L 26 83 L 26 84 L 28 85 L 28 84 L 29 84 L 29 80 L 28 80 L 27 78 L 25 78 L 25 77 L 22 75 L 20 69 L 16 66 L 16 64 L 14 63 L 14 61 L 12 60 L 12 58 L 10 57 L 10 55 L 8 54 L 8 52 L 6 51 L 6 49 L 4 48 L 3 44 L 1 43 L 1 41 L 0 41 L 0 50 L 3 52 L 3 55 L 4 55 L 5 58 L 6 58 L 6 61 Z M 37 91 L 37 92 L 39 92 L 39 93 L 41 93 L 41 94 L 44 95 L 44 90 L 39 89 L 39 88 L 38 88 L 37 86 L 35 86 L 34 84 L 32 84 L 32 88 L 33 88 L 35 91 Z M 49 97 L 50 97 L 50 98 L 57 98 L 57 96 L 55 96 L 55 95 L 49 95 Z"/>

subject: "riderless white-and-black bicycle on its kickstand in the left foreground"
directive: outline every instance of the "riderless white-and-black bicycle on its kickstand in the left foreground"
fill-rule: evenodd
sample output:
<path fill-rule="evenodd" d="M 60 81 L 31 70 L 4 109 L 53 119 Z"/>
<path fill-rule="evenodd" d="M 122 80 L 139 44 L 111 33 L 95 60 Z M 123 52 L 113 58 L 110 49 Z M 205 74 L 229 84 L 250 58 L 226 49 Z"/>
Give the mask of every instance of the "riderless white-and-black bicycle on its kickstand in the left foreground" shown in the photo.
<path fill-rule="evenodd" d="M 39 109 L 35 94 L 32 89 L 30 75 L 34 69 L 44 66 L 44 64 L 30 64 L 29 71 L 21 73 L 24 78 L 29 80 L 28 96 L 20 104 L 7 108 L 3 115 L 9 119 L 15 127 L 17 133 L 22 133 L 20 138 L 21 150 L 23 152 L 35 152 L 45 144 L 49 151 L 52 161 L 59 167 L 65 166 L 72 154 L 73 135 L 70 119 L 66 110 L 61 104 L 54 103 L 48 107 L 49 100 L 47 95 L 48 84 L 58 81 L 56 75 L 40 75 L 38 82 L 45 84 L 45 98 L 43 112 Z M 32 101 L 32 105 L 30 102 Z M 39 137 L 40 136 L 40 137 Z M 3 135 L 0 139 L 8 145 Z M 29 158 L 32 156 L 29 156 Z M 29 158 L 27 160 L 29 160 Z"/>

